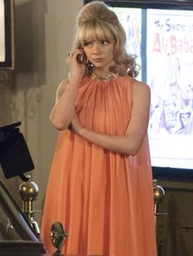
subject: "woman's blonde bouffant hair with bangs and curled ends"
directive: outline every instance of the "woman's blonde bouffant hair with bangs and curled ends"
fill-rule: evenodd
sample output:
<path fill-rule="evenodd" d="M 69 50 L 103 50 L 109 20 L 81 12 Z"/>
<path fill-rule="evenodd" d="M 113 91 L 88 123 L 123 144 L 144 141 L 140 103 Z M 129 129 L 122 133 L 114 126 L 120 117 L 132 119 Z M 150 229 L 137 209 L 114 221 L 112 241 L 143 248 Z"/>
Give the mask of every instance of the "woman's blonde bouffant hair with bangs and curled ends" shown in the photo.
<path fill-rule="evenodd" d="M 104 2 L 94 1 L 86 4 L 79 12 L 74 36 L 74 48 L 83 49 L 85 41 L 90 38 L 107 39 L 114 42 L 114 61 L 116 65 L 110 71 L 128 74 L 133 78 L 138 70 L 135 58 L 125 49 L 126 34 L 114 11 Z"/>

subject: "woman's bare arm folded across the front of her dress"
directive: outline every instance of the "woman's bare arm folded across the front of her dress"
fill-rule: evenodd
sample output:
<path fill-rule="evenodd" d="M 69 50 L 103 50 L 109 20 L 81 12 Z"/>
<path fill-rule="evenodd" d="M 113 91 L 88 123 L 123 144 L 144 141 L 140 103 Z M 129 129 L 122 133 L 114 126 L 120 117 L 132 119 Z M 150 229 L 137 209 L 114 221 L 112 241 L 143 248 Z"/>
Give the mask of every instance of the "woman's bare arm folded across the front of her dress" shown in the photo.
<path fill-rule="evenodd" d="M 107 150 L 127 155 L 136 155 L 139 150 L 149 122 L 150 112 L 150 88 L 141 82 L 135 81 L 132 84 L 133 106 L 132 115 L 126 134 L 123 136 L 105 135 L 90 131 L 79 123 L 75 116 L 72 121 L 72 127 L 80 136 L 88 139 L 97 146 Z"/>

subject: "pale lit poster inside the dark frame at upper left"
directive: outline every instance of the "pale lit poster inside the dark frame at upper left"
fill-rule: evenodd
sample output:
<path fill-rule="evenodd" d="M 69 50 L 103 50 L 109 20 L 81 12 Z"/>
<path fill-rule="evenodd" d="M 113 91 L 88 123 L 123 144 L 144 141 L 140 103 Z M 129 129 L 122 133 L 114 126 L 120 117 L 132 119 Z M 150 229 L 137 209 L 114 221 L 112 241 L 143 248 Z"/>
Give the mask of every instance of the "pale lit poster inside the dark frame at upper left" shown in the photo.
<path fill-rule="evenodd" d="M 4 0 L 0 0 L 0 62 L 6 61 L 5 46 L 5 7 Z"/>

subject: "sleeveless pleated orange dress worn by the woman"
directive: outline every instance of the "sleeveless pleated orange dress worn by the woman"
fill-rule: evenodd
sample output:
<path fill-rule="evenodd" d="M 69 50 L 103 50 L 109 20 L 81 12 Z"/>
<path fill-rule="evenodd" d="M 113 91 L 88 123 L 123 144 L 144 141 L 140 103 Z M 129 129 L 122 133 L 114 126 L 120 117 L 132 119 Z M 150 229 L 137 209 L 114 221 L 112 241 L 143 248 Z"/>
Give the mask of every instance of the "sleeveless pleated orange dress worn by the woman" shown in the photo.
<path fill-rule="evenodd" d="M 132 112 L 129 76 L 84 79 L 76 113 L 85 128 L 123 135 Z M 147 137 L 135 156 L 105 150 L 60 132 L 47 184 L 41 236 L 49 252 L 53 222 L 69 233 L 65 256 L 156 256 Z"/>

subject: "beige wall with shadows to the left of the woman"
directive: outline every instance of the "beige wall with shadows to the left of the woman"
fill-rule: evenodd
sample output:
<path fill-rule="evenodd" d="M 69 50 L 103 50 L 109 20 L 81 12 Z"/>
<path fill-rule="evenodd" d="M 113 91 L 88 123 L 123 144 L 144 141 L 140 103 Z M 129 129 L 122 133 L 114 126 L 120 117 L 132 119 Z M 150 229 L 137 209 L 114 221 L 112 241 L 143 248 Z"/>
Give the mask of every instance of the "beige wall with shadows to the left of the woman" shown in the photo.
<path fill-rule="evenodd" d="M 75 17 L 82 0 L 15 0 L 16 70 L 12 81 L 0 87 L 0 126 L 21 121 L 34 160 L 38 183 L 35 209 L 42 209 L 57 131 L 48 120 L 58 83 L 65 79 L 65 63 L 73 40 Z M 5 179 L 20 204 L 18 177 Z M 37 213 L 41 219 L 41 214 Z"/>

